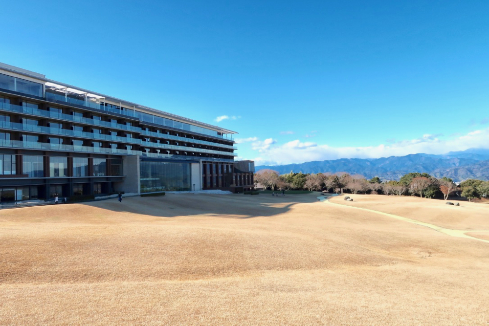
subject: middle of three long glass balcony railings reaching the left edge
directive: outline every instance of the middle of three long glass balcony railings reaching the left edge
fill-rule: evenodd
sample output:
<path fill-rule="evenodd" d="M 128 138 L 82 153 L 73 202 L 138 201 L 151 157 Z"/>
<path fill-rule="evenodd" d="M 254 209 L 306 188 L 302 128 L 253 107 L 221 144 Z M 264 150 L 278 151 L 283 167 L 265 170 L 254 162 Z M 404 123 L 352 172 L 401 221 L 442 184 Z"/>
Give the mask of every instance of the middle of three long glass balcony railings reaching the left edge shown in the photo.
<path fill-rule="evenodd" d="M 50 128 L 50 127 L 28 125 L 28 124 L 22 124 L 16 122 L 0 121 L 0 129 L 30 131 L 30 132 L 50 134 L 55 136 L 79 137 L 79 138 L 89 138 L 93 140 L 106 140 L 106 141 L 114 141 L 114 142 L 121 142 L 121 143 L 141 144 L 141 139 L 137 139 L 137 138 L 119 137 L 119 136 L 106 135 L 102 133 L 92 133 L 92 132 L 85 132 L 85 131 Z"/>

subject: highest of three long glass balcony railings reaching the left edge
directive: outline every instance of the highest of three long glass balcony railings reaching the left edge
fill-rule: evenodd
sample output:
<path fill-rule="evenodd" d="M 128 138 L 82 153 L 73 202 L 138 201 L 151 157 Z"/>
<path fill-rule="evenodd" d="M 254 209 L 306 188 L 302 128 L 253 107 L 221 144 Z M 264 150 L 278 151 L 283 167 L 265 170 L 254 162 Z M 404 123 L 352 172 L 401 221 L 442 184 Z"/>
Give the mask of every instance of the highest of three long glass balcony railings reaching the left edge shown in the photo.
<path fill-rule="evenodd" d="M 105 128 L 141 132 L 141 128 L 138 128 L 138 127 L 126 126 L 126 125 L 121 125 L 118 123 L 111 123 L 108 121 L 101 121 L 101 120 L 89 119 L 89 118 L 84 118 L 84 117 L 78 117 L 78 116 L 70 115 L 70 114 L 64 114 L 64 113 L 51 112 L 51 111 L 46 111 L 46 110 L 41 110 L 41 109 L 28 108 L 28 107 L 23 107 L 20 105 L 15 105 L 15 104 L 0 103 L 0 110 L 14 112 L 14 113 L 31 114 L 31 115 L 43 117 L 43 118 L 51 118 L 51 119 L 69 121 L 69 122 L 77 122 L 77 123 L 87 124 L 87 125 L 91 125 L 91 126 L 99 126 L 99 127 L 105 127 Z"/>

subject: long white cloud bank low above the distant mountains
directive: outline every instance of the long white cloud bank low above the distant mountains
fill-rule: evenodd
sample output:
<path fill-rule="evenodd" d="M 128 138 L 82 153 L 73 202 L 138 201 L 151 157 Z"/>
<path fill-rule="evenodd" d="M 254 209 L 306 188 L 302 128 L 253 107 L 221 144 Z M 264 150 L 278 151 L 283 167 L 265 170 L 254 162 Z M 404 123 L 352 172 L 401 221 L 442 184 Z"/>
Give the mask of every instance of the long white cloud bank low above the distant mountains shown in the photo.
<path fill-rule="evenodd" d="M 465 135 L 453 134 L 441 140 L 441 135 L 424 134 L 417 139 L 408 139 L 388 144 L 367 147 L 331 147 L 311 142 L 290 141 L 275 145 L 271 138 L 268 143 L 253 143 L 253 149 L 260 152 L 255 164 L 289 164 L 309 161 L 333 160 L 338 158 L 378 158 L 403 156 L 413 153 L 443 154 L 464 151 L 468 148 L 488 148 L 489 128 L 474 130 Z M 271 141 L 271 143 L 270 143 Z"/>

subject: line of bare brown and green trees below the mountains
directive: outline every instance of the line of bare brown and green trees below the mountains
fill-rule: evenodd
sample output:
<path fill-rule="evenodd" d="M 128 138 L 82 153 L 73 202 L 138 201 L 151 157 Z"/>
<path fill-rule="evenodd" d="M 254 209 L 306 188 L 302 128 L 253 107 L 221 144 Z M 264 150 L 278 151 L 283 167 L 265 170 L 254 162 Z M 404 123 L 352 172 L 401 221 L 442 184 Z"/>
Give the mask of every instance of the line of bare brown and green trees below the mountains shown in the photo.
<path fill-rule="evenodd" d="M 437 179 L 427 173 L 408 173 L 399 181 L 382 182 L 379 177 L 367 180 L 359 174 L 318 173 L 279 174 L 273 170 L 260 170 L 254 175 L 255 185 L 260 183 L 265 189 L 309 191 L 343 191 L 352 194 L 384 194 L 389 196 L 413 195 L 426 198 L 443 198 L 446 200 L 451 193 L 457 192 L 469 201 L 474 198 L 489 196 L 489 181 L 468 179 L 456 185 L 452 179 Z"/>

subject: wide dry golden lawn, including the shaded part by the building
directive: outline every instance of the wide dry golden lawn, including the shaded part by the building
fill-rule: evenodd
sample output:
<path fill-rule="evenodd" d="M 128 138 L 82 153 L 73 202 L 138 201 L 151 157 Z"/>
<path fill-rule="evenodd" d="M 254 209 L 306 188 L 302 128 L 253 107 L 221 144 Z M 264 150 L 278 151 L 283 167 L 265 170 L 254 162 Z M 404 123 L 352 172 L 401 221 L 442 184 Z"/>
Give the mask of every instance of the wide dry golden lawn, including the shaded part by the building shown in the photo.
<path fill-rule="evenodd" d="M 488 325 L 489 205 L 167 195 L 0 211 L 0 325 Z"/>

